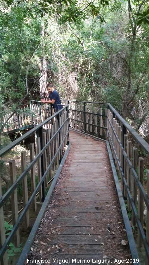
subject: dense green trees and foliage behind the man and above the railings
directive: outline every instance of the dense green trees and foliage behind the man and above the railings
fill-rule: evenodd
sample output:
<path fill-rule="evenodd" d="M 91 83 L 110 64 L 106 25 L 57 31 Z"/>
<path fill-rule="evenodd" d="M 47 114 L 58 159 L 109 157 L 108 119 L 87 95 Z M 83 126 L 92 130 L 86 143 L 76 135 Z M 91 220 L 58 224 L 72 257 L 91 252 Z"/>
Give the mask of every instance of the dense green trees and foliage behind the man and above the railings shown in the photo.
<path fill-rule="evenodd" d="M 148 1 L 2 0 L 0 12 L 1 120 L 52 82 L 63 99 L 109 102 L 137 129 L 147 123 Z"/>

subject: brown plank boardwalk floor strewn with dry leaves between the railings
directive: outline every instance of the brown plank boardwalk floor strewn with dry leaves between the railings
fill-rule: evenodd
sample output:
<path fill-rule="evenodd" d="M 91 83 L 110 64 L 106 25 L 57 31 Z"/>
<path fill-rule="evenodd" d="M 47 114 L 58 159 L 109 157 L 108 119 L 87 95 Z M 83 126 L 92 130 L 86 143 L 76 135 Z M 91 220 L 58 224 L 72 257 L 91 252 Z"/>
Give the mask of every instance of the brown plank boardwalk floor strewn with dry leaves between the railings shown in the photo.
<path fill-rule="evenodd" d="M 127 236 L 106 143 L 73 131 L 70 142 L 32 256 L 50 264 L 131 264 L 129 246 L 121 245 Z"/>

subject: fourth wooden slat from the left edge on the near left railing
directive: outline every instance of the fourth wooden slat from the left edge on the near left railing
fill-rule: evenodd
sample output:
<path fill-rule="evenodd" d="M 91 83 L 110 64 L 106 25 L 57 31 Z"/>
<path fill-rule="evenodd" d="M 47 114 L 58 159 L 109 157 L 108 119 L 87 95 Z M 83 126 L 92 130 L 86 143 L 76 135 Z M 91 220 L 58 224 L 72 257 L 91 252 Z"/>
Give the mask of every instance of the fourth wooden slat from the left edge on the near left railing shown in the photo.
<path fill-rule="evenodd" d="M 30 144 L 30 162 L 34 160 L 34 144 Z M 36 183 L 35 183 L 35 165 L 31 168 L 30 170 L 31 173 L 31 190 L 32 193 L 34 192 L 36 188 Z M 32 201 L 32 209 L 35 212 L 37 210 L 37 203 L 36 203 L 36 196 L 34 197 Z"/>

